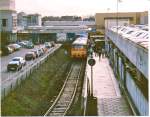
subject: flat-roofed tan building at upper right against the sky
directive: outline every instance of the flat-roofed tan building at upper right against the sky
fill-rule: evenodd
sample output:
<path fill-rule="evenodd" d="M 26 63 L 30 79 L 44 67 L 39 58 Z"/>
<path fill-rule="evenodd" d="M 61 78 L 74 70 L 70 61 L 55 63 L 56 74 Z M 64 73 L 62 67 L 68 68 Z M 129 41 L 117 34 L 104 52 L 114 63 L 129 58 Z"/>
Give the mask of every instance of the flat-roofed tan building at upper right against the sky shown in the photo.
<path fill-rule="evenodd" d="M 107 20 L 128 21 L 129 24 L 148 23 L 148 12 L 118 12 L 118 13 L 96 13 L 95 23 L 97 30 L 104 30 Z M 117 21 L 117 20 L 116 20 Z M 117 23 L 117 22 L 116 22 Z M 117 24 L 114 24 L 117 25 Z"/>

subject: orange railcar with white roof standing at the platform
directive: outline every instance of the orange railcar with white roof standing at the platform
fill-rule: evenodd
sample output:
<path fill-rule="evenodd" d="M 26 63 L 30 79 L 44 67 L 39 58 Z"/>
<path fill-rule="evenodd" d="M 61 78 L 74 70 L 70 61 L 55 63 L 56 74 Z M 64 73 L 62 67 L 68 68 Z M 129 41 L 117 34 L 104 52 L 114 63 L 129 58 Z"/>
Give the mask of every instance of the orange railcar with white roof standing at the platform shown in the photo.
<path fill-rule="evenodd" d="M 86 37 L 79 37 L 73 43 L 71 47 L 72 58 L 86 58 L 87 57 L 87 40 Z"/>

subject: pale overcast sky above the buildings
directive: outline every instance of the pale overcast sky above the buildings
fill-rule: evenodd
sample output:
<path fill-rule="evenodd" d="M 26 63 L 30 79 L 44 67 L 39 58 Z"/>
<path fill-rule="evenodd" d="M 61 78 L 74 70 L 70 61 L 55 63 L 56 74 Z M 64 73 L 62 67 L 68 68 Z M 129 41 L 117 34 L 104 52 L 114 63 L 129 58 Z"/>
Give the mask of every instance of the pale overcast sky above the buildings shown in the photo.
<path fill-rule="evenodd" d="M 150 10 L 150 0 L 121 0 L 119 11 Z M 107 9 L 110 9 L 107 11 Z M 42 16 L 95 15 L 98 12 L 114 12 L 117 0 L 16 0 L 16 10 L 39 13 Z"/>

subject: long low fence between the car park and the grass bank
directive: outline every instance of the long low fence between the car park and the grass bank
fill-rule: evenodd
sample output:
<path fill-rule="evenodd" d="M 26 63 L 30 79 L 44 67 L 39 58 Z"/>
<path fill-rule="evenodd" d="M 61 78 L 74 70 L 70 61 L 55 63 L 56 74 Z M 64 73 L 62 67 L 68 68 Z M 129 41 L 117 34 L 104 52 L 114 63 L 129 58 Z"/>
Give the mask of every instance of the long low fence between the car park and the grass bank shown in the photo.
<path fill-rule="evenodd" d="M 11 81 L 8 83 L 4 83 L 1 86 L 1 99 L 4 99 L 9 92 L 13 91 L 17 86 L 19 86 L 30 74 L 38 69 L 41 64 L 46 62 L 51 54 L 53 54 L 61 45 L 57 45 L 52 50 L 48 51 L 48 53 L 38 61 L 35 61 L 33 64 L 30 64 L 25 71 L 22 73 L 18 73 L 14 78 L 11 78 Z"/>

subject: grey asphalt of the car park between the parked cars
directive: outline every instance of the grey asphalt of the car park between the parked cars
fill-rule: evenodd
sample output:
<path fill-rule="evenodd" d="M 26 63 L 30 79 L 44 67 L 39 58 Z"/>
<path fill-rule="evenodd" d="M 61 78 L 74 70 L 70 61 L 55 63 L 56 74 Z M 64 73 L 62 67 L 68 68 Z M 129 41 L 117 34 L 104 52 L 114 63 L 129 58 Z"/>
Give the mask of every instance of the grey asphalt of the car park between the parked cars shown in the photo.
<path fill-rule="evenodd" d="M 34 49 L 42 47 L 43 45 L 37 45 L 34 47 Z M 52 49 L 52 48 L 50 48 Z M 25 69 L 27 69 L 30 65 L 41 59 L 43 56 L 38 57 L 35 60 L 27 61 L 26 66 L 24 66 L 20 71 L 7 71 L 7 65 L 14 57 L 25 57 L 25 54 L 29 51 L 32 51 L 33 49 L 26 49 L 21 48 L 19 51 L 16 51 L 12 54 L 9 54 L 8 56 L 1 57 L 1 82 L 5 83 L 5 81 L 11 80 L 15 76 L 17 76 L 20 72 L 23 72 Z M 46 54 L 46 53 L 45 53 Z"/>

